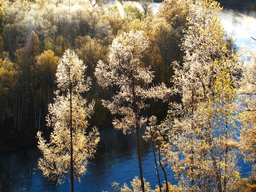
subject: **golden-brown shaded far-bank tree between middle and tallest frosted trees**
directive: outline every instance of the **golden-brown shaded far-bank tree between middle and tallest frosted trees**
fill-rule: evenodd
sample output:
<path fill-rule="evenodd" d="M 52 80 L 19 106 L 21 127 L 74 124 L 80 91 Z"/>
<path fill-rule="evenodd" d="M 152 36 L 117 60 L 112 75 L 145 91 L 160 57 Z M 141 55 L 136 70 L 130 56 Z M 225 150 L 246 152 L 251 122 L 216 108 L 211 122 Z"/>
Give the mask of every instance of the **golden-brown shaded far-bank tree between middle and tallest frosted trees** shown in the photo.
<path fill-rule="evenodd" d="M 181 51 L 183 27 L 174 28 L 164 18 L 155 17 L 141 22 L 141 29 L 150 39 L 150 46 L 143 58 L 147 65 L 155 71 L 154 83 L 164 82 L 172 85 L 174 61 L 182 61 L 184 52 Z"/>

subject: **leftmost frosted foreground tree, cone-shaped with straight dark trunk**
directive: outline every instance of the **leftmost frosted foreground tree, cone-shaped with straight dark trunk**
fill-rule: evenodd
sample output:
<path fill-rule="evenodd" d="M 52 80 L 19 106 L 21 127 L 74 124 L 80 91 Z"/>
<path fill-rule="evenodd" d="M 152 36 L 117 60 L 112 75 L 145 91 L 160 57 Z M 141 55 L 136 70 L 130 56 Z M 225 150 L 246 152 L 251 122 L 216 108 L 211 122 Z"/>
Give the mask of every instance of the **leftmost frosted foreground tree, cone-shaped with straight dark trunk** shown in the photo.
<path fill-rule="evenodd" d="M 87 159 L 93 157 L 99 132 L 93 128 L 87 132 L 87 118 L 93 113 L 94 101 L 89 104 L 81 93 L 88 91 L 91 80 L 85 81 L 85 69 L 82 60 L 67 50 L 59 60 L 57 69 L 58 91 L 55 92 L 54 103 L 49 105 L 47 125 L 53 127 L 50 141 L 37 133 L 38 148 L 43 153 L 39 158 L 38 167 L 43 175 L 50 180 L 65 181 L 70 175 L 71 191 L 74 191 L 74 178 L 80 181 L 79 175 L 86 172 Z"/>

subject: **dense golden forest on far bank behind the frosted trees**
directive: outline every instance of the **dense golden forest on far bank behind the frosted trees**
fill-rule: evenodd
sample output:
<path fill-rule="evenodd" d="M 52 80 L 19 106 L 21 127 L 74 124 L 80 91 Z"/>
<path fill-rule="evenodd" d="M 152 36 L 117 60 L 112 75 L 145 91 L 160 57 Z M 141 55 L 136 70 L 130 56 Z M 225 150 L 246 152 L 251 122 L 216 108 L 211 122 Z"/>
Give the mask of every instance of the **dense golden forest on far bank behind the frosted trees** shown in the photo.
<path fill-rule="evenodd" d="M 171 63 L 182 60 L 179 44 L 188 3 L 173 1 L 176 8 L 170 15 L 165 14 L 166 5 L 157 17 L 147 1 L 141 4 L 143 10 L 125 3 L 123 13 L 117 6 L 107 8 L 102 3 L 1 2 L 1 145 L 34 140 L 38 130 L 48 130 L 47 106 L 53 101 L 55 71 L 66 49 L 75 50 L 87 66 L 92 89 L 84 97 L 96 100 L 90 124 L 99 128 L 111 125 L 110 114 L 100 100 L 111 98 L 116 87 L 101 89 L 93 73 L 99 60 L 107 61 L 115 36 L 131 29 L 145 31 L 150 47 L 143 65 L 155 71 L 155 84 L 171 85 Z"/>

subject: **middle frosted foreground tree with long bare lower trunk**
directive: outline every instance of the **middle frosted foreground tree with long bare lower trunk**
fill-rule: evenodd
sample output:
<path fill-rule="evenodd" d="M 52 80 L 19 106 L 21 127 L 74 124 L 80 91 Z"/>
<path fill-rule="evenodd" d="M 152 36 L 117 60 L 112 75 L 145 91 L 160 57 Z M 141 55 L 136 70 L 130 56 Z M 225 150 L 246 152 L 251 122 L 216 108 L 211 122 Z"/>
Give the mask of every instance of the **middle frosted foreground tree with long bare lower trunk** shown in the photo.
<path fill-rule="evenodd" d="M 116 37 L 110 46 L 108 64 L 98 62 L 95 68 L 95 76 L 98 84 L 102 87 L 116 85 L 119 91 L 113 96 L 112 101 L 102 100 L 103 106 L 107 107 L 112 114 L 123 116 L 115 118 L 113 125 L 124 133 L 130 133 L 134 127 L 137 136 L 137 152 L 140 167 L 140 180 L 142 191 L 145 191 L 140 145 L 139 127 L 146 122 L 141 117 L 140 110 L 147 105 L 149 98 L 166 99 L 171 90 L 164 84 L 149 86 L 153 80 L 153 71 L 150 67 L 142 67 L 142 53 L 149 46 L 147 38 L 143 37 L 142 31 L 130 31 Z"/>

